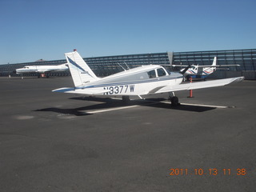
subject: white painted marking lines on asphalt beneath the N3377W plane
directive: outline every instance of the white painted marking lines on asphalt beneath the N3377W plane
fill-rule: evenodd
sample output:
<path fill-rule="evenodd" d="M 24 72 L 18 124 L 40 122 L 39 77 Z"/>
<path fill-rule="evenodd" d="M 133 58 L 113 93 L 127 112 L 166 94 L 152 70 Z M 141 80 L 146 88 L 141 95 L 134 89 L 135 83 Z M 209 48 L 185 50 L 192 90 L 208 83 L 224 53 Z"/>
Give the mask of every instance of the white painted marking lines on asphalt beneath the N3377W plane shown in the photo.
<path fill-rule="evenodd" d="M 170 104 L 170 102 L 152 102 L 150 105 L 154 105 L 157 103 L 167 103 Z M 226 109 L 228 106 L 211 106 L 211 105 L 202 105 L 202 104 L 191 104 L 191 103 L 181 103 L 181 105 L 186 105 L 186 106 L 205 106 L 205 107 L 214 107 L 214 108 L 220 108 L 220 109 Z M 109 111 L 114 111 L 114 110 L 126 110 L 134 107 L 138 107 L 140 105 L 134 105 L 134 106 L 119 106 L 119 107 L 114 107 L 110 109 L 105 109 L 105 110 L 88 110 L 86 111 L 87 114 L 98 114 L 98 113 L 104 113 L 104 112 L 109 112 Z"/>

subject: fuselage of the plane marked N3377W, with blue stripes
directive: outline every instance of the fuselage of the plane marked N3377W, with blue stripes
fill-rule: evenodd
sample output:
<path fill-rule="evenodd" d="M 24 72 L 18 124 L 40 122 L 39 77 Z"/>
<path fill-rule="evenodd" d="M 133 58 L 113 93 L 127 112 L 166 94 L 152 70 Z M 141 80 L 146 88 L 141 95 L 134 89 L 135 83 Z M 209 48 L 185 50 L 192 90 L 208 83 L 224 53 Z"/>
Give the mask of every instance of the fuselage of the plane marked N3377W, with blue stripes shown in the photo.
<path fill-rule="evenodd" d="M 101 93 L 103 95 L 144 95 L 156 94 L 167 86 L 178 85 L 183 75 L 170 73 L 162 66 L 139 66 L 118 74 L 101 78 L 95 82 L 87 82 L 75 87 L 76 92 Z"/>

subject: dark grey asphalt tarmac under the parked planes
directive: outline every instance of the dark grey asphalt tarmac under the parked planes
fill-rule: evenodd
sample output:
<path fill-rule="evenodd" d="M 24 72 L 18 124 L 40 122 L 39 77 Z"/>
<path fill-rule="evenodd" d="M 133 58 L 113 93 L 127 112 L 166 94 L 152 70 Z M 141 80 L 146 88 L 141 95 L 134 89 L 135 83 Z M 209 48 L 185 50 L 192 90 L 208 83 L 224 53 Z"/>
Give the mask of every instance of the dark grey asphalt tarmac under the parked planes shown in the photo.
<path fill-rule="evenodd" d="M 1 191 L 256 190 L 255 81 L 177 92 L 178 107 L 63 86 L 0 78 Z"/>

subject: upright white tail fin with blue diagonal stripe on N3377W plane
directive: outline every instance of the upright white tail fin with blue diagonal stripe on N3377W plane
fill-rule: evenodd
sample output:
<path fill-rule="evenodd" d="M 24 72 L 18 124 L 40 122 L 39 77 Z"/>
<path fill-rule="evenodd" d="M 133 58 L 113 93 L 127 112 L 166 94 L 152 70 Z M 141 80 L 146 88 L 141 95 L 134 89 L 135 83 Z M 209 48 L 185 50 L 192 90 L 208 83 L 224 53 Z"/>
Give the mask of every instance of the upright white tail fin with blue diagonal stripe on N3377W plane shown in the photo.
<path fill-rule="evenodd" d="M 98 80 L 94 72 L 87 66 L 77 51 L 66 53 L 66 62 L 69 64 L 70 73 L 73 78 L 74 86 L 81 86 L 87 82 Z"/>

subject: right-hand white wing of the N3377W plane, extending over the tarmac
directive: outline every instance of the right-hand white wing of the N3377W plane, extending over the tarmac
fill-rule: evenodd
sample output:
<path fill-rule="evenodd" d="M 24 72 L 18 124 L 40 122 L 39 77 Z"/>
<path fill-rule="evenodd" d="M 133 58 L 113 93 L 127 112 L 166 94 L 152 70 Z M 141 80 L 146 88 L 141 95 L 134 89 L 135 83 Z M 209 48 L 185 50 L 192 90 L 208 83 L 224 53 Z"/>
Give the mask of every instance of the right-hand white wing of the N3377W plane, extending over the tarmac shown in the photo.
<path fill-rule="evenodd" d="M 210 88 L 214 86 L 226 86 L 231 82 L 241 82 L 243 79 L 244 77 L 223 78 L 223 79 L 207 81 L 207 82 L 192 82 L 192 83 L 180 84 L 177 86 L 165 86 L 162 89 L 156 91 L 155 94 L 178 91 L 178 90 L 197 90 L 197 89 Z"/>

